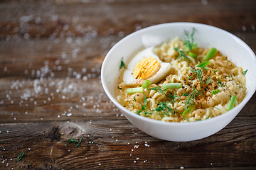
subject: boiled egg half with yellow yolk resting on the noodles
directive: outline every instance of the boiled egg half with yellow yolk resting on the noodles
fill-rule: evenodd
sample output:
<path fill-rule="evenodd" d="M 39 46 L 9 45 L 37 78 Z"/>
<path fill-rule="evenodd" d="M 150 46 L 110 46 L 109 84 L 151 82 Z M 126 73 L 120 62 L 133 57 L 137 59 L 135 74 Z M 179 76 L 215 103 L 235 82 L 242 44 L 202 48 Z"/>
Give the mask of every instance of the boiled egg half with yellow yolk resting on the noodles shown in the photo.
<path fill-rule="evenodd" d="M 153 49 L 146 48 L 132 58 L 123 74 L 125 84 L 142 84 L 146 79 L 156 84 L 169 74 L 171 64 L 162 62 Z"/>

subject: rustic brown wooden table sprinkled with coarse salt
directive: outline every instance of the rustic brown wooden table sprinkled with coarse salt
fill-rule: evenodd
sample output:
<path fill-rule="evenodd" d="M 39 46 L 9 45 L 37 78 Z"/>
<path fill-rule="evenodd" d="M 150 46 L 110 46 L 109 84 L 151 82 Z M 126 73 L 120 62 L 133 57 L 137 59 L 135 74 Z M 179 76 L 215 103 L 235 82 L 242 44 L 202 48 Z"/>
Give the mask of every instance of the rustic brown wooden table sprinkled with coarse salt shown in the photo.
<path fill-rule="evenodd" d="M 256 52 L 255 8 L 255 0 L 0 1 L 0 169 L 256 169 L 256 95 L 215 135 L 168 142 L 129 123 L 100 82 L 112 45 L 159 23 L 217 26 Z M 70 137 L 80 145 L 66 145 Z"/>

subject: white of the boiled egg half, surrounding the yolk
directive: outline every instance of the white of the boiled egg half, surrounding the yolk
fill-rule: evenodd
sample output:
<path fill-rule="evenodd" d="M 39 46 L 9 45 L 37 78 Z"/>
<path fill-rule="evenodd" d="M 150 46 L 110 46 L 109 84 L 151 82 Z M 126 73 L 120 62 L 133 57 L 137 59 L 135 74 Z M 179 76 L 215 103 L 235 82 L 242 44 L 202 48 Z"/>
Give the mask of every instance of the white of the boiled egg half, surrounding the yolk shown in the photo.
<path fill-rule="evenodd" d="M 153 52 L 154 47 L 148 47 L 145 50 L 142 50 L 141 52 L 138 52 L 137 55 L 135 55 L 131 62 L 129 62 L 127 69 L 125 69 L 124 74 L 123 74 L 123 81 L 125 84 L 142 84 L 145 80 L 144 79 L 135 79 L 132 72 L 140 60 L 144 59 L 145 57 L 152 57 L 155 58 L 158 62 L 160 62 L 161 67 L 156 74 L 154 74 L 152 77 L 149 78 L 152 84 L 156 84 L 164 77 L 166 77 L 170 70 L 171 70 L 171 64 L 162 62 L 157 55 L 154 54 Z"/>

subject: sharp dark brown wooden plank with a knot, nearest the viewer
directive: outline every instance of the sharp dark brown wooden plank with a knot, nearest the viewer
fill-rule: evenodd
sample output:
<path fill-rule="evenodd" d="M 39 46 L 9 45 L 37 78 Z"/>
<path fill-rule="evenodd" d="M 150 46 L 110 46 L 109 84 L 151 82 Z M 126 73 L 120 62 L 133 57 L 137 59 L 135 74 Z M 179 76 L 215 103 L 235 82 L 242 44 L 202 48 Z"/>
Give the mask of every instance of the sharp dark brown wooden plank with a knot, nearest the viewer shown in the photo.
<path fill-rule="evenodd" d="M 241 125 L 241 121 L 251 123 Z M 15 169 L 29 164 L 58 169 L 255 166 L 256 126 L 252 122 L 255 118 L 236 118 L 215 135 L 193 142 L 157 140 L 127 120 L 2 124 L 1 154 L 8 152 L 9 157 L 0 161 L 10 162 Z M 72 135 L 82 135 L 79 147 L 65 146 L 65 140 Z M 21 150 L 26 157 L 18 164 L 11 162 Z"/>

